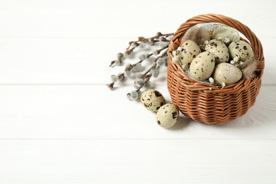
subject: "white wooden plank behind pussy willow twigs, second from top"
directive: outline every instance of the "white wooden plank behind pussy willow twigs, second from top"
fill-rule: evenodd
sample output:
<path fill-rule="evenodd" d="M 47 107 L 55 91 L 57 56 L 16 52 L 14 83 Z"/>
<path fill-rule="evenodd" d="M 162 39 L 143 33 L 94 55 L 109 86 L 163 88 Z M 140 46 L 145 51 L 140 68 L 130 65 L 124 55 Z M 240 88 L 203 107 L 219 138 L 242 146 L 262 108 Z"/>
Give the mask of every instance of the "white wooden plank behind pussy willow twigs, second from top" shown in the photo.
<path fill-rule="evenodd" d="M 136 38 L 134 38 L 136 39 Z M 108 67 L 123 52 L 130 38 L 0 38 L 0 84 L 108 84 L 110 76 L 123 72 L 125 67 Z M 274 51 L 271 42 L 276 38 L 262 38 L 265 50 L 263 84 L 276 84 Z M 110 49 L 111 48 L 111 49 Z M 152 50 L 137 48 L 124 64 L 136 63 L 141 53 Z M 136 59 L 135 59 L 136 58 Z M 153 59 L 142 63 L 144 71 Z M 166 67 L 155 85 L 166 85 Z M 133 78 L 132 78 L 133 79 Z M 130 85 L 126 80 L 120 85 Z"/>

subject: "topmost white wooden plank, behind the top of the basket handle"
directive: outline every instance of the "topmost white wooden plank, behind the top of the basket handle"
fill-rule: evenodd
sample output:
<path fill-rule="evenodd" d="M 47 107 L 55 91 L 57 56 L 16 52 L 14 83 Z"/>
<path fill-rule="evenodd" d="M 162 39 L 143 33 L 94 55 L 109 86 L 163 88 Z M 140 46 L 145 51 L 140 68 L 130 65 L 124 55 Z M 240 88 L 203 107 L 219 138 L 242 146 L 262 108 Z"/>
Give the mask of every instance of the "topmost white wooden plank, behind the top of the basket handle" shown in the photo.
<path fill-rule="evenodd" d="M 197 8 L 193 1 L 176 0 L 173 4 L 183 6 L 185 11 L 171 13 L 171 1 L 22 1 L 1 2 L 1 37 L 137 37 L 150 35 L 152 31 L 176 31 L 188 18 L 215 13 L 235 18 L 246 24 L 259 36 L 274 36 L 275 11 L 273 1 L 233 1 L 246 11 L 223 8 L 222 1 L 199 0 Z M 264 29 L 265 28 L 265 29 Z"/>

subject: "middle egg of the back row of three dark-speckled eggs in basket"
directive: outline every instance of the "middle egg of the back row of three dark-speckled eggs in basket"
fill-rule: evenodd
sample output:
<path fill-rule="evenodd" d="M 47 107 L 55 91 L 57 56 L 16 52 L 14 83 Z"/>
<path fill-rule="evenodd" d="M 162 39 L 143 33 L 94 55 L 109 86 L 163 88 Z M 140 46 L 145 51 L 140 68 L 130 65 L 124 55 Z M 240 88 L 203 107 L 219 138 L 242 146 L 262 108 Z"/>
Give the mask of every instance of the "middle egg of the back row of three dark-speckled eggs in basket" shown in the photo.
<path fill-rule="evenodd" d="M 229 60 L 229 50 L 224 42 L 220 40 L 210 40 L 206 45 L 205 50 L 214 54 L 216 64 L 228 62 Z"/>

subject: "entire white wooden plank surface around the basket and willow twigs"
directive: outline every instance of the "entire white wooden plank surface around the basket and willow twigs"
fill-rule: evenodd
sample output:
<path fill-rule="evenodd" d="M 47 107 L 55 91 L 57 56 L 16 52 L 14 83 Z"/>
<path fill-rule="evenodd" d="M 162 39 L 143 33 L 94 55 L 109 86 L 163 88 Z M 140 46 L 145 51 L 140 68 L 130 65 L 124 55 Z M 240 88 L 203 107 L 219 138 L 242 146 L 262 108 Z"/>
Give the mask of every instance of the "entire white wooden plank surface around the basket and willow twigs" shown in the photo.
<path fill-rule="evenodd" d="M 0 183 L 276 183 L 275 1 L 0 1 Z M 263 43 L 253 108 L 224 125 L 163 129 L 108 90 L 130 40 L 218 13 Z M 136 62 L 126 59 L 127 62 Z M 149 64 L 149 63 L 147 63 Z M 153 80 L 166 100 L 166 68 Z"/>

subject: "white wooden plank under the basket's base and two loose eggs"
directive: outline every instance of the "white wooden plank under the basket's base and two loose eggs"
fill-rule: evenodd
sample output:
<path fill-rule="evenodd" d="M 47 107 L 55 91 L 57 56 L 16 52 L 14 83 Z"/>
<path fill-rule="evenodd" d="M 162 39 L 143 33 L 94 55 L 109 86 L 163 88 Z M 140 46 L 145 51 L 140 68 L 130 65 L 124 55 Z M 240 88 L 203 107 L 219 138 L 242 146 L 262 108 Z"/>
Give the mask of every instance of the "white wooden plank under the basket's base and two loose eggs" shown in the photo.
<path fill-rule="evenodd" d="M 166 86 L 154 88 L 171 102 Z M 263 86 L 246 115 L 205 125 L 181 115 L 169 129 L 125 95 L 132 86 L 0 86 L 0 139 L 276 139 L 276 86 Z"/>

